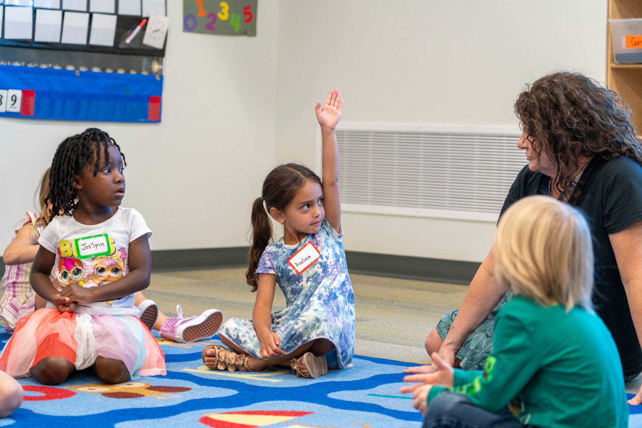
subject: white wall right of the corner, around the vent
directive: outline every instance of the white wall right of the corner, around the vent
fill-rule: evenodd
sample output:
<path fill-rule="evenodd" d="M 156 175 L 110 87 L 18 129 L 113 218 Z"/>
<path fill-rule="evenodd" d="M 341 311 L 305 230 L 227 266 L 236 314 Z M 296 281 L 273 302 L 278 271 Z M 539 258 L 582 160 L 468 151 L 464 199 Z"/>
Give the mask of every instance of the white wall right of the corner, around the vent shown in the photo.
<path fill-rule="evenodd" d="M 342 121 L 517 124 L 526 82 L 605 80 L 606 18 L 606 0 L 281 0 L 277 161 L 314 165 L 313 107 L 334 87 Z M 482 261 L 495 230 L 347 212 L 343 225 L 347 250 L 464 261 Z"/>

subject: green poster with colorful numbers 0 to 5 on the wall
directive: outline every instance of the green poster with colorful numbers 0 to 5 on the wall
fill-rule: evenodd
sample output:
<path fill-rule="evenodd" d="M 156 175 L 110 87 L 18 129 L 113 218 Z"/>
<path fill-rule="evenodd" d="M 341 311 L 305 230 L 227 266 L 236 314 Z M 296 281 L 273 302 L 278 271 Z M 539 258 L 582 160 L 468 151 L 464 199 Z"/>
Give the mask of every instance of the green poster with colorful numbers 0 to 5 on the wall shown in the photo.
<path fill-rule="evenodd" d="M 187 33 L 256 36 L 258 0 L 183 0 Z"/>

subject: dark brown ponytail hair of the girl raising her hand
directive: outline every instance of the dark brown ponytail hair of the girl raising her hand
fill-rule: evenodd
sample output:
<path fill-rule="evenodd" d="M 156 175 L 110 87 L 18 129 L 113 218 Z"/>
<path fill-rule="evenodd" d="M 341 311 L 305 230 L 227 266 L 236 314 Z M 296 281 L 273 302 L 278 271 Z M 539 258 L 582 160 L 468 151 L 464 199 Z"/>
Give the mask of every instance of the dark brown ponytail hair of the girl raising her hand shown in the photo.
<path fill-rule="evenodd" d="M 272 239 L 272 221 L 270 208 L 284 210 L 294 199 L 297 192 L 311 181 L 321 184 L 321 179 L 311 169 L 299 164 L 279 165 L 272 169 L 263 181 L 263 197 L 256 198 L 252 203 L 252 242 L 247 255 L 249 267 L 245 273 L 248 286 L 256 291 L 259 277 L 256 270 L 265 247 Z M 263 201 L 265 200 L 265 207 Z"/>

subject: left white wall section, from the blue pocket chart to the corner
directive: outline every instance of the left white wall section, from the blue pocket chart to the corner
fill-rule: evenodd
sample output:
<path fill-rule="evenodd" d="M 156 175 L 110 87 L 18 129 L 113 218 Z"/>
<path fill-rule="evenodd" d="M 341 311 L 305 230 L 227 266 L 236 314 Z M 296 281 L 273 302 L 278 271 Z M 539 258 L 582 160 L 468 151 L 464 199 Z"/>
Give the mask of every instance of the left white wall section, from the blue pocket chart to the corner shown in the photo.
<path fill-rule="evenodd" d="M 182 32 L 183 2 L 167 3 L 162 123 L 0 119 L 0 243 L 33 209 L 58 143 L 98 126 L 127 157 L 123 206 L 143 214 L 152 249 L 247 245 L 275 152 L 278 4 L 261 1 L 257 37 L 226 37 Z"/>

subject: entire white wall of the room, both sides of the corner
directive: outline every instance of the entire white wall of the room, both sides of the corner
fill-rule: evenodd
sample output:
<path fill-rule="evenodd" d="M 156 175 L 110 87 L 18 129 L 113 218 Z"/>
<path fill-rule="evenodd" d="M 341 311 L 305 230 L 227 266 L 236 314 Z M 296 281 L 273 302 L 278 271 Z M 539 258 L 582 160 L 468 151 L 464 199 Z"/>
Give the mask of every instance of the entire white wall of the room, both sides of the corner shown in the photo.
<path fill-rule="evenodd" d="M 0 119 L 0 243 L 56 145 L 88 126 L 126 153 L 123 205 L 143 213 L 153 249 L 242 246 L 273 164 L 314 165 L 313 107 L 329 89 L 346 99 L 343 121 L 516 124 L 526 82 L 605 78 L 606 0 L 259 3 L 249 38 L 184 33 L 182 1 L 168 0 L 160 124 Z M 495 229 L 347 212 L 343 224 L 347 250 L 465 261 L 483 259 Z"/>

